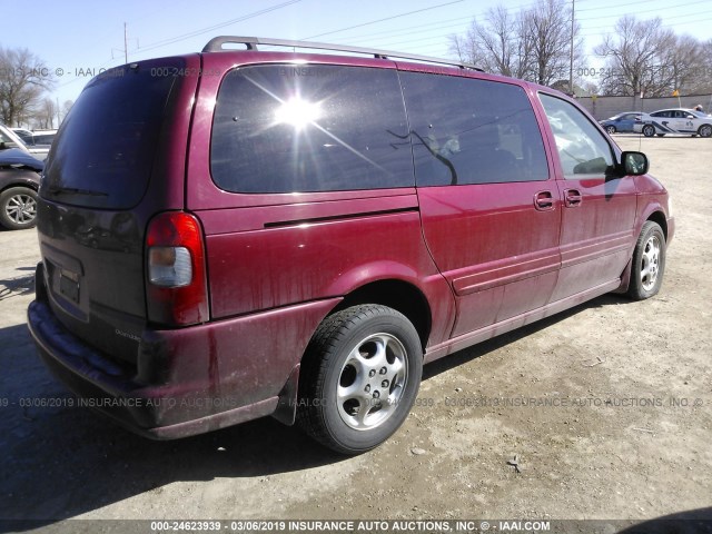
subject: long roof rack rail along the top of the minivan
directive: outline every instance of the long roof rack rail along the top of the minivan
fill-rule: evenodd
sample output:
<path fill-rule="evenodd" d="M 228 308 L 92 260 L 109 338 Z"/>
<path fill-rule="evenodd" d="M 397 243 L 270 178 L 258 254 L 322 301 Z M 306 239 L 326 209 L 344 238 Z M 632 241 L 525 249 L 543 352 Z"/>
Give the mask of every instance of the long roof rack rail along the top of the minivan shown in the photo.
<path fill-rule="evenodd" d="M 373 48 L 349 47 L 347 44 L 329 44 L 326 42 L 312 42 L 312 41 L 290 41 L 285 39 L 269 39 L 264 37 L 233 37 L 220 36 L 215 37 L 208 41 L 202 49 L 204 52 L 219 52 L 224 50 L 224 44 L 245 44 L 247 50 L 257 50 L 258 44 L 266 44 L 270 47 L 289 47 L 289 48 L 312 48 L 315 50 L 332 50 L 338 52 L 353 52 L 365 53 L 373 56 L 376 59 L 412 59 L 415 61 L 425 61 L 428 63 L 447 65 L 451 67 L 458 67 L 461 69 L 472 69 L 484 72 L 481 68 L 463 61 L 454 61 L 452 59 L 431 58 L 428 56 L 416 56 L 412 53 L 394 52 L 388 50 L 376 50 Z"/>

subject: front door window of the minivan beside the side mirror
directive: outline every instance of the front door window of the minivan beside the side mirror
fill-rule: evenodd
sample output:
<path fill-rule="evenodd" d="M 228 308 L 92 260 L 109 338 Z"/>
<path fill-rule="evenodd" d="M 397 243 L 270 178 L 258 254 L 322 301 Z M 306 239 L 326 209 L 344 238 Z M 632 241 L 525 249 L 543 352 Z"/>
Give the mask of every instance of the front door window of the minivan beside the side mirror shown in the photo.
<path fill-rule="evenodd" d="M 601 177 L 613 167 L 613 152 L 603 135 L 578 108 L 550 95 L 540 93 L 554 132 L 564 178 Z"/>

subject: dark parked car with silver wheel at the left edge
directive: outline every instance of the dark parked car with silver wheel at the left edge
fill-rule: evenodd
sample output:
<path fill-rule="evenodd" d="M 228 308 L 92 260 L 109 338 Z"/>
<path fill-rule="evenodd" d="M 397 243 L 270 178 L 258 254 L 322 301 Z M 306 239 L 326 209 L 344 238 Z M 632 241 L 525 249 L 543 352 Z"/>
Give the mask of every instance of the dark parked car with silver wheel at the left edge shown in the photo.
<path fill-rule="evenodd" d="M 19 148 L 0 150 L 0 225 L 9 230 L 37 222 L 37 190 L 44 164 Z"/>

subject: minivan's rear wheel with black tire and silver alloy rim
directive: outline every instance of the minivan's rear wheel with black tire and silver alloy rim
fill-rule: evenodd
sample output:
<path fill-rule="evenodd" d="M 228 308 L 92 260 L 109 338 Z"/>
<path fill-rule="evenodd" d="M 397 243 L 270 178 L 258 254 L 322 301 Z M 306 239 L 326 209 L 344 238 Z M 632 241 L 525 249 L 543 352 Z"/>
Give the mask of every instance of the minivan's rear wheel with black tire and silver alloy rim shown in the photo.
<path fill-rule="evenodd" d="M 373 304 L 337 312 L 301 363 L 297 424 L 338 453 L 369 451 L 408 416 L 422 374 L 421 338 L 403 314 Z"/>

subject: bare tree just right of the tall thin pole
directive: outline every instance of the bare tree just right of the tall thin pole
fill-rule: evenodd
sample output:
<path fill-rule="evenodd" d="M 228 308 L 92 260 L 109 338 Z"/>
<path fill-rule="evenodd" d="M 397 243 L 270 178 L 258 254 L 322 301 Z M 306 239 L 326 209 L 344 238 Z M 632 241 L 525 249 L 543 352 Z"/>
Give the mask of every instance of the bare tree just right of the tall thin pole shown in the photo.
<path fill-rule="evenodd" d="M 632 16 L 622 17 L 614 33 L 605 36 L 594 49 L 606 58 L 602 90 L 605 95 L 668 96 L 676 76 L 675 44 L 674 32 L 663 29 L 661 19 L 639 21 Z"/>

